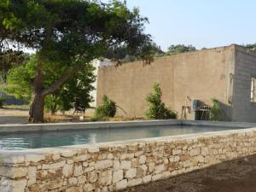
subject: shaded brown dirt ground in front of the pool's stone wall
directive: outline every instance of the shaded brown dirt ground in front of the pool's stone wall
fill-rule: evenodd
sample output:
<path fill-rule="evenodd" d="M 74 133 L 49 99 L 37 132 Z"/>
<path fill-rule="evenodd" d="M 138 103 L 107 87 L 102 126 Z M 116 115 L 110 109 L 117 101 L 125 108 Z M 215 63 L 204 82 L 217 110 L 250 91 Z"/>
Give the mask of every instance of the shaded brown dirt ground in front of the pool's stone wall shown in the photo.
<path fill-rule="evenodd" d="M 256 155 L 122 192 L 256 192 Z"/>

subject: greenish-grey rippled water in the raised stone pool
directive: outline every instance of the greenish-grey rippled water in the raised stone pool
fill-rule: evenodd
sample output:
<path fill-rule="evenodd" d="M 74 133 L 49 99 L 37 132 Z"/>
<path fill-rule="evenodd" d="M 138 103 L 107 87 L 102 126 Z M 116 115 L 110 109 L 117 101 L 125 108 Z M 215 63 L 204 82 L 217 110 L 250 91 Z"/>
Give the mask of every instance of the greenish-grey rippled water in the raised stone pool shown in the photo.
<path fill-rule="evenodd" d="M 27 148 L 48 148 L 67 145 L 125 141 L 129 139 L 166 137 L 209 131 L 224 131 L 238 128 L 216 126 L 147 126 L 102 129 L 81 129 L 69 131 L 38 131 L 0 135 L 0 149 L 22 150 Z"/>

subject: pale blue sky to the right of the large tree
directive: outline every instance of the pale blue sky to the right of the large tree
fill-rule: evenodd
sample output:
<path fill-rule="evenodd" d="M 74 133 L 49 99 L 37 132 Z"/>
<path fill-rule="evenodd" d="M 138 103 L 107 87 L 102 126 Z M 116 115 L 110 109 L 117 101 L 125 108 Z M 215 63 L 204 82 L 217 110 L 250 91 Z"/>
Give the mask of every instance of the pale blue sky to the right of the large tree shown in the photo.
<path fill-rule="evenodd" d="M 256 43 L 255 0 L 126 0 L 148 17 L 146 32 L 166 50 Z"/>

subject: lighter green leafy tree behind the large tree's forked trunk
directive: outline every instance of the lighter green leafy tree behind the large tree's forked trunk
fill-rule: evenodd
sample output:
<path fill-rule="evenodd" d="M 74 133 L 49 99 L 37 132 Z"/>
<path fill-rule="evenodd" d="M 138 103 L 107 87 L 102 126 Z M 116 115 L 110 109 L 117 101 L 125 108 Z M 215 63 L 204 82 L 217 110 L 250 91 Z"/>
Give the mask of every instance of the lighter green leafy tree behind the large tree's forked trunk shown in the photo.
<path fill-rule="evenodd" d="M 35 78 L 35 68 L 37 67 L 38 56 L 32 55 L 26 64 L 13 68 L 8 76 L 9 92 L 16 97 L 32 96 L 32 79 Z M 95 88 L 91 85 L 95 82 L 95 67 L 91 64 L 86 65 L 72 79 L 68 79 L 66 84 L 55 90 L 52 94 L 45 97 L 45 109 L 52 114 L 58 110 L 67 111 L 73 108 L 73 102 L 82 104 L 85 108 L 90 107 L 93 101 L 90 91 Z M 42 69 L 44 75 L 44 86 L 53 84 L 62 73 L 61 67 L 51 67 L 51 63 L 44 63 Z"/>

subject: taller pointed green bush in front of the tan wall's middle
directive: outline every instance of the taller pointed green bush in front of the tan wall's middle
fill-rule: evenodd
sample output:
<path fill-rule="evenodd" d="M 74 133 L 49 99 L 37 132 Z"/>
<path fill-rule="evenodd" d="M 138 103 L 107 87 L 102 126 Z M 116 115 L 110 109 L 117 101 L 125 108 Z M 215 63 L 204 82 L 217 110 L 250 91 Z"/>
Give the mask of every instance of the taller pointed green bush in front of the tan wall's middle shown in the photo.
<path fill-rule="evenodd" d="M 171 108 L 166 108 L 165 103 L 161 101 L 161 96 L 160 84 L 154 83 L 154 92 L 146 97 L 149 107 L 146 116 L 149 119 L 177 119 L 177 113 L 174 113 Z"/>

